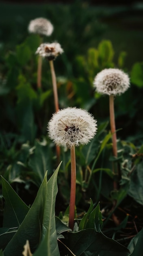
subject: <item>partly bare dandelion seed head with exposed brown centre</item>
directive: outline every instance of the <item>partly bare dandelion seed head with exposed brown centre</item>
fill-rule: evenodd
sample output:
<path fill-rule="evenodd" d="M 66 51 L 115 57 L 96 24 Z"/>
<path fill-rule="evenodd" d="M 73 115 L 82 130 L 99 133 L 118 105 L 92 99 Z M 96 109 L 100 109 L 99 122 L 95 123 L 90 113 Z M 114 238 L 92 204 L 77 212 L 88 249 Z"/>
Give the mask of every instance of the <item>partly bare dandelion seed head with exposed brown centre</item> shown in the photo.
<path fill-rule="evenodd" d="M 59 54 L 63 53 L 63 49 L 59 43 L 43 43 L 41 44 L 36 54 L 44 58 L 48 58 L 49 61 L 54 60 Z"/>

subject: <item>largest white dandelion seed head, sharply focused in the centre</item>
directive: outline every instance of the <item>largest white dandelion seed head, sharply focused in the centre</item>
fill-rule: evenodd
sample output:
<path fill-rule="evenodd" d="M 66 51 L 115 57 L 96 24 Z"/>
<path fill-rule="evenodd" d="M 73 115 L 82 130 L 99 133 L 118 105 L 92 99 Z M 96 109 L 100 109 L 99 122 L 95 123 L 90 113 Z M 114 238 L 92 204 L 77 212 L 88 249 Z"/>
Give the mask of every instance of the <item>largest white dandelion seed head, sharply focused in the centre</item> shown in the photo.
<path fill-rule="evenodd" d="M 48 123 L 49 137 L 57 146 L 87 144 L 96 134 L 97 121 L 86 110 L 65 108 L 54 113 Z"/>

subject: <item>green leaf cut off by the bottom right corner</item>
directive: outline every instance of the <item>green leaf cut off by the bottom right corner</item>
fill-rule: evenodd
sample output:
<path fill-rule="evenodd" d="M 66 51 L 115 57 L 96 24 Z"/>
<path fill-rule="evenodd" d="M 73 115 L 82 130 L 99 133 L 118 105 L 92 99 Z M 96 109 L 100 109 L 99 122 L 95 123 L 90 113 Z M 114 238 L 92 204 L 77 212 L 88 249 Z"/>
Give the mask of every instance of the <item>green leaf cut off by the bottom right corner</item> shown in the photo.
<path fill-rule="evenodd" d="M 130 256 L 138 256 L 143 254 L 143 229 L 132 238 L 128 245 Z"/>

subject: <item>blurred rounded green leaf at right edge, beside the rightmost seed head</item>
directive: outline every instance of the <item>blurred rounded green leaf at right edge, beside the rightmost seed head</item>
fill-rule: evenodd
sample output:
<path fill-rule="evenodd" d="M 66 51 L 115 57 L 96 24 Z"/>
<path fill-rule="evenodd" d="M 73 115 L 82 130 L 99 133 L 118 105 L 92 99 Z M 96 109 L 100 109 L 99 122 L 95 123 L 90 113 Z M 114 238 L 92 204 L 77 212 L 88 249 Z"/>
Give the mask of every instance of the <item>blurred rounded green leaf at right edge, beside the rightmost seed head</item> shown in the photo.
<path fill-rule="evenodd" d="M 131 71 L 131 82 L 138 87 L 143 87 L 143 62 L 137 62 L 133 65 Z"/>

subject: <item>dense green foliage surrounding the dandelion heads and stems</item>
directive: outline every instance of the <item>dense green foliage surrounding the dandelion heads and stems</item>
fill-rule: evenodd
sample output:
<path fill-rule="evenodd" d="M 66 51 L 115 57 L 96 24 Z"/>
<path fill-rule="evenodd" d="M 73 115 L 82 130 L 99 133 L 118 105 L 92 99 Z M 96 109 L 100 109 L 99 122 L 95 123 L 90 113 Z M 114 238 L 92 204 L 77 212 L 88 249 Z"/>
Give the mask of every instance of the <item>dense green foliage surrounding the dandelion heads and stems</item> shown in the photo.
<path fill-rule="evenodd" d="M 26 240 L 34 256 L 141 254 L 142 12 L 138 6 L 95 7 L 80 1 L 1 4 L 0 255 L 22 255 Z M 98 120 L 94 139 L 76 148 L 74 231 L 68 227 L 70 152 L 61 148 L 58 166 L 47 135 L 55 111 L 50 67 L 43 59 L 42 88 L 37 88 L 35 52 L 41 38 L 27 30 L 30 20 L 41 16 L 54 25 L 44 42 L 58 41 L 64 49 L 54 61 L 60 108 L 83 108 Z M 95 75 L 109 67 L 124 70 L 131 83 L 115 97 L 118 157 L 112 153 L 108 97 L 93 88 Z M 113 174 L 113 162 L 121 177 Z"/>

